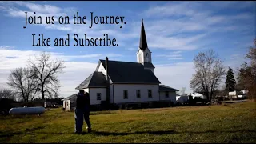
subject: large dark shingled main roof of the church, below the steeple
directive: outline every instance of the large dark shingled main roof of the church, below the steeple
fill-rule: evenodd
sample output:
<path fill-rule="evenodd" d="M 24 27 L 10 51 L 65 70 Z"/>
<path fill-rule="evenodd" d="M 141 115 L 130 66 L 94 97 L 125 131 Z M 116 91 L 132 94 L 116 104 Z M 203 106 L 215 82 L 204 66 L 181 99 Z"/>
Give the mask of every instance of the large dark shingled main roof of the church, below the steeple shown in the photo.
<path fill-rule="evenodd" d="M 100 62 L 106 69 L 106 61 L 100 60 Z M 161 83 L 151 70 L 145 70 L 138 62 L 108 61 L 108 66 L 108 75 L 114 83 Z"/>

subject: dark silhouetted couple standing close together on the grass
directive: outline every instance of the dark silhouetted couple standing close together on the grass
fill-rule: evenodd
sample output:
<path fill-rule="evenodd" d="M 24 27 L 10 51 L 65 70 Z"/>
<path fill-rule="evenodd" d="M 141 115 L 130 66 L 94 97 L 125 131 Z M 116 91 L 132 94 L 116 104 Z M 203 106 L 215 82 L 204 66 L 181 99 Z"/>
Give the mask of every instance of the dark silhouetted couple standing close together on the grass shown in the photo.
<path fill-rule="evenodd" d="M 75 118 L 75 126 L 74 126 L 74 133 L 81 134 L 82 133 L 82 125 L 83 125 L 83 118 L 85 118 L 87 124 L 88 132 L 91 131 L 90 127 L 90 97 L 89 93 L 84 90 L 79 90 L 77 94 L 77 105 L 75 108 L 74 118 Z"/>

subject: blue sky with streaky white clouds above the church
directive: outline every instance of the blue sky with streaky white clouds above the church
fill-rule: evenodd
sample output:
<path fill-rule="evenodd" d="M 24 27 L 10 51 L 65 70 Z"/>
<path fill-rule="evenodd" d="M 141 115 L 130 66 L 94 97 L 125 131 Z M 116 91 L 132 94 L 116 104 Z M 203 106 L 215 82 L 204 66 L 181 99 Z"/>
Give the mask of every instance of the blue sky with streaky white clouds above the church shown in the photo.
<path fill-rule="evenodd" d="M 186 87 L 194 74 L 193 58 L 198 52 L 214 49 L 225 66 L 236 69 L 244 61 L 255 38 L 255 2 L 0 2 L 0 88 L 7 87 L 10 70 L 26 66 L 28 58 L 48 51 L 65 61 L 60 74 L 61 97 L 74 94 L 78 86 L 96 69 L 98 59 L 136 62 L 136 52 L 144 19 L 146 37 L 155 74 L 167 86 Z M 25 12 L 41 15 L 42 25 L 25 26 Z M 34 14 L 36 12 L 36 14 Z M 86 16 L 86 25 L 74 25 L 74 14 Z M 90 12 L 94 16 L 124 16 L 126 25 L 94 25 L 89 29 Z M 70 16 L 70 25 L 46 25 L 46 16 Z M 44 38 L 66 38 L 69 47 L 32 46 L 32 34 Z M 102 38 L 109 34 L 118 47 L 73 46 L 73 35 Z M 37 37 L 38 38 L 38 37 Z"/>

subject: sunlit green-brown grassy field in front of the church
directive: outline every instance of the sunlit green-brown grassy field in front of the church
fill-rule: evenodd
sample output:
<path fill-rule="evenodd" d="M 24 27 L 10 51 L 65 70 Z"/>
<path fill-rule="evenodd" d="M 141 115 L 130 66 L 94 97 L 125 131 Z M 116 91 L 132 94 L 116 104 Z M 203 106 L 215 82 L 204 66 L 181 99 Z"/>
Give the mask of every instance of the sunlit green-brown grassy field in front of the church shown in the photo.
<path fill-rule="evenodd" d="M 256 142 L 256 103 L 93 112 L 93 132 L 73 134 L 74 113 L 1 117 L 0 142 Z M 86 131 L 86 126 L 83 126 Z"/>

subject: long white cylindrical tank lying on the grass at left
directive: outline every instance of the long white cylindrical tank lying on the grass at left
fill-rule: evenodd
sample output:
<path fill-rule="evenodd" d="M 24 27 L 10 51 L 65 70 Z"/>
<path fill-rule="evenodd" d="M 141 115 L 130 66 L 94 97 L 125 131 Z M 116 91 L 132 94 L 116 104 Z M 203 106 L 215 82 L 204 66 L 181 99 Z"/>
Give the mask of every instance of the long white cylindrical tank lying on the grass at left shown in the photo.
<path fill-rule="evenodd" d="M 11 108 L 10 114 L 43 114 L 45 112 L 45 108 L 40 107 L 16 107 Z"/>

